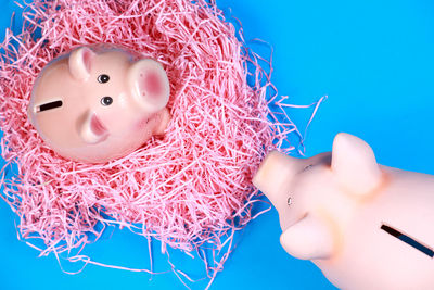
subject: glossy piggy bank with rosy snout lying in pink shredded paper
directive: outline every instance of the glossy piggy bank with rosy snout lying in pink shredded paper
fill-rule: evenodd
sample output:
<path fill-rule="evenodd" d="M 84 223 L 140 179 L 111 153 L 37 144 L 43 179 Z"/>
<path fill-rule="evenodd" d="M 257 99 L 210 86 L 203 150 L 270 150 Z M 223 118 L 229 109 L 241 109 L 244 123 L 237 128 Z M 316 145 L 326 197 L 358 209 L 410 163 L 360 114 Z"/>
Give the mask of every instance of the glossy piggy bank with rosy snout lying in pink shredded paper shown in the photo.
<path fill-rule="evenodd" d="M 56 153 L 88 163 L 124 156 L 162 135 L 169 81 L 158 62 L 140 58 L 100 45 L 53 60 L 33 88 L 30 123 Z"/>

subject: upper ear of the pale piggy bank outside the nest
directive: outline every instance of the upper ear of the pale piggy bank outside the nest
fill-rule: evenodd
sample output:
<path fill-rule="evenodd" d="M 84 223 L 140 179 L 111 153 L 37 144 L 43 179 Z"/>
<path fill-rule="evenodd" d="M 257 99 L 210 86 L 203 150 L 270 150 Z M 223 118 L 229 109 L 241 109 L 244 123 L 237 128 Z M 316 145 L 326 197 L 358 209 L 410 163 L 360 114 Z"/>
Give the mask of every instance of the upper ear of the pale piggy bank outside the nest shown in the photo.
<path fill-rule="evenodd" d="M 334 138 L 332 172 L 346 189 L 359 194 L 370 192 L 382 179 L 369 144 L 345 133 L 337 134 Z"/>

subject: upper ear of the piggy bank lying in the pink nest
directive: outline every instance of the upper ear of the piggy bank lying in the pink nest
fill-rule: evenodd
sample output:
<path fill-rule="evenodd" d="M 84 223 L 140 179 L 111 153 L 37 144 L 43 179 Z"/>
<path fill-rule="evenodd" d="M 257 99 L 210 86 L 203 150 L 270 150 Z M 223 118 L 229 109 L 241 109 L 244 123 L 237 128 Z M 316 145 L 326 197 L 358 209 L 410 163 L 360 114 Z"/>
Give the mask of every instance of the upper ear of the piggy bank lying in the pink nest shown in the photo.
<path fill-rule="evenodd" d="M 87 47 L 74 50 L 69 55 L 69 73 L 77 80 L 84 81 L 90 76 L 90 66 L 95 53 Z"/>

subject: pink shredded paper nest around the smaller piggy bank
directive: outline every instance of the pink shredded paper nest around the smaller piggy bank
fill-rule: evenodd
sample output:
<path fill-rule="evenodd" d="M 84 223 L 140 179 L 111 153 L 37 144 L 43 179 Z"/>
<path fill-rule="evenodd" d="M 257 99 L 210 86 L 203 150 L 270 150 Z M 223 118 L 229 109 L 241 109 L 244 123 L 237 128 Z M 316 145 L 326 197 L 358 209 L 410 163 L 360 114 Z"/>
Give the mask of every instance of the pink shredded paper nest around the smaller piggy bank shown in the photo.
<path fill-rule="evenodd" d="M 8 30 L 1 46 L 1 152 L 7 163 L 17 164 L 18 174 L 3 174 L 0 185 L 20 217 L 21 236 L 37 234 L 43 240 L 41 254 L 98 240 L 104 229 L 98 229 L 99 223 L 130 228 L 186 252 L 205 242 L 219 250 L 227 241 L 224 235 L 230 240 L 228 232 L 253 218 L 252 205 L 258 201 L 253 174 L 295 127 L 268 119 L 269 76 L 214 3 L 36 0 L 23 17 L 23 31 Z M 173 121 L 163 139 L 94 165 L 50 150 L 30 126 L 27 105 L 48 62 L 99 42 L 125 46 L 164 65 Z M 247 63 L 255 67 L 253 87 L 246 80 Z"/>

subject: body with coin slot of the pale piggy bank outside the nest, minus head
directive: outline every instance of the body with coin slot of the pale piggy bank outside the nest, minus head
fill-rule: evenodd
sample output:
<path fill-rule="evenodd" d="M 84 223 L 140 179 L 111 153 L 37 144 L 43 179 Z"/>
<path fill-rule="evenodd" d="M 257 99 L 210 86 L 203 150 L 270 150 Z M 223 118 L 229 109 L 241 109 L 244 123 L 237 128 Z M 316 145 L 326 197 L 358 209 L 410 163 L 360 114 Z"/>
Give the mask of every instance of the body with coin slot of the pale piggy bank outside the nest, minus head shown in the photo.
<path fill-rule="evenodd" d="M 434 289 L 434 178 L 383 167 L 384 190 L 359 207 L 341 252 L 316 264 L 343 289 Z M 395 236 L 404 234 L 423 247 Z M 403 238 L 403 236 L 401 236 Z M 409 239 L 407 239 L 409 240 Z"/>

